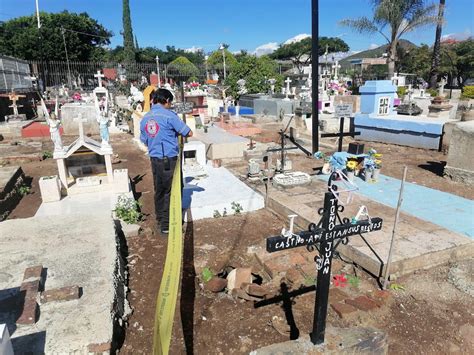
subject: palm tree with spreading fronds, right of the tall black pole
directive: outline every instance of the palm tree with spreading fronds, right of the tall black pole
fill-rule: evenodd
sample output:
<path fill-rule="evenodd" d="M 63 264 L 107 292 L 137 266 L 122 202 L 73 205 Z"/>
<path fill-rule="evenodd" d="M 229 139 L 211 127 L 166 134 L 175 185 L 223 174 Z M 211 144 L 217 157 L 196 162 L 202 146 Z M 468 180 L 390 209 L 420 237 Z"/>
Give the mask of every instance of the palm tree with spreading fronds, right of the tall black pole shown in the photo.
<path fill-rule="evenodd" d="M 373 18 L 360 17 L 345 19 L 340 25 L 353 28 L 363 33 L 379 33 L 388 43 L 388 75 L 395 73 L 397 61 L 397 44 L 400 38 L 417 28 L 434 24 L 435 5 L 426 5 L 424 0 L 371 0 L 374 5 Z"/>

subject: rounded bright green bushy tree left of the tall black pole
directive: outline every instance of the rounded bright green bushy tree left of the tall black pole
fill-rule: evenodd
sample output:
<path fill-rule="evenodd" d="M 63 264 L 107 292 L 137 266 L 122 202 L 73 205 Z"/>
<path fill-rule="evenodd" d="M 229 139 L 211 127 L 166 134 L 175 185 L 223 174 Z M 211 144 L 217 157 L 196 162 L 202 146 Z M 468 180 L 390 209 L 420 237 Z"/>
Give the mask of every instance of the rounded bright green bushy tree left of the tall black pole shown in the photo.
<path fill-rule="evenodd" d="M 226 84 L 230 85 L 229 94 L 237 98 L 238 80 L 244 79 L 248 93 L 252 94 L 268 92 L 270 89 L 268 79 L 271 78 L 276 79 L 275 87 L 279 90 L 283 83 L 283 77 L 278 74 L 278 64 L 274 60 L 268 56 L 243 55 L 227 77 Z"/>

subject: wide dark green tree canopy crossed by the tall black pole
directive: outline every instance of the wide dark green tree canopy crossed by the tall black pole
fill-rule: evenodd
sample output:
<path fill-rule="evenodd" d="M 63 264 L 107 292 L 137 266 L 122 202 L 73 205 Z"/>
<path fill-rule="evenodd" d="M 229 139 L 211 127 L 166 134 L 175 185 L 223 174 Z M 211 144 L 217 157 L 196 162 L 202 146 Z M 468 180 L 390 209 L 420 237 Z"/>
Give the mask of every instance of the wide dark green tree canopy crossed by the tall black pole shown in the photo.
<path fill-rule="evenodd" d="M 280 60 L 291 60 L 299 71 L 309 63 L 311 63 L 311 37 L 306 37 L 298 42 L 282 44 L 273 52 L 270 57 Z M 340 38 L 334 37 L 319 37 L 318 54 L 323 55 L 328 50 L 328 53 L 347 52 L 349 46 Z"/>

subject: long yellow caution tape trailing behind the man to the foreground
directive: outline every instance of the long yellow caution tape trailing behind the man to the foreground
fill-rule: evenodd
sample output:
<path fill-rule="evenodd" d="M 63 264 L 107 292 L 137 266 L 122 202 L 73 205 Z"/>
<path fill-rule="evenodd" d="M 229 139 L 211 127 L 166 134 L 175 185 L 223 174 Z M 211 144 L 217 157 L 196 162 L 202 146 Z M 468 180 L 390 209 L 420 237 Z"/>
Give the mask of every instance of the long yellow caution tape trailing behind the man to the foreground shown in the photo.
<path fill-rule="evenodd" d="M 183 226 L 181 210 L 181 159 L 178 156 L 173 173 L 170 198 L 170 225 L 165 268 L 156 300 L 153 354 L 167 355 L 171 343 L 176 299 L 183 255 Z"/>

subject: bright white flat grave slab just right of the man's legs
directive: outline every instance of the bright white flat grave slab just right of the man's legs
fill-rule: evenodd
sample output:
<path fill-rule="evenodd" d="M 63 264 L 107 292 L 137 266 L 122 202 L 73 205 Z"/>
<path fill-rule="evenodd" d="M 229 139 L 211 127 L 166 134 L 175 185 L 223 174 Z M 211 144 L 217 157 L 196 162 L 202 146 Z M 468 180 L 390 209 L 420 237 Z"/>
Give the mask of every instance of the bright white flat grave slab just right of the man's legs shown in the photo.
<path fill-rule="evenodd" d="M 224 208 L 228 215 L 234 214 L 232 202 L 242 206 L 242 213 L 265 207 L 263 196 L 226 168 L 213 168 L 210 165 L 204 168 L 207 172 L 205 178 L 184 175 L 183 208 L 191 208 L 193 220 L 212 218 L 215 211 L 222 215 Z"/>

